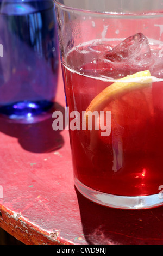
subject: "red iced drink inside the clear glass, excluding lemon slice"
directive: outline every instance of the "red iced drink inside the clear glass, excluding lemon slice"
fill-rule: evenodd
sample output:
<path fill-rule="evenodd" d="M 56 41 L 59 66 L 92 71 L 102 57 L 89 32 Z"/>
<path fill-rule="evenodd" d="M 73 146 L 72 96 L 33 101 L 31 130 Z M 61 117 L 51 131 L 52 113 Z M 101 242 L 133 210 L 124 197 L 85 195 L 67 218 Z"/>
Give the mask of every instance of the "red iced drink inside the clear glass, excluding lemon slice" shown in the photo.
<path fill-rule="evenodd" d="M 114 83 L 109 77 L 144 70 L 153 76 L 151 86 L 127 89 L 101 106 L 102 111 L 111 111 L 109 136 L 101 136 L 100 130 L 83 131 L 82 118 L 81 130 L 70 129 L 76 179 L 93 190 L 120 196 L 158 194 L 163 184 L 163 82 L 155 79 L 163 78 L 163 65 L 159 46 L 153 49 L 142 34 L 137 36 L 138 41 L 132 37 L 123 44 L 88 42 L 71 50 L 67 67 L 62 65 L 69 112 L 78 111 L 81 117 Z"/>

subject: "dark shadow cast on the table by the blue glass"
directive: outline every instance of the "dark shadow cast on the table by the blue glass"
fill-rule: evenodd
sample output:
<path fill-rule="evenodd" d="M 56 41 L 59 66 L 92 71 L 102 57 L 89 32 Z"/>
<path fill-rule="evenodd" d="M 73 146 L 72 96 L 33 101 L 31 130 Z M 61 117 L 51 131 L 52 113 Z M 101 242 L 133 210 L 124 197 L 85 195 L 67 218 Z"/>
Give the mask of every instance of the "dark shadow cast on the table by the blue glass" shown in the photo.
<path fill-rule="evenodd" d="M 33 153 L 45 153 L 56 150 L 64 145 L 64 139 L 60 131 L 54 131 L 52 124 L 54 111 L 61 111 L 64 115 L 64 107 L 54 104 L 48 118 L 36 123 L 21 124 L 7 118 L 0 118 L 0 132 L 16 137 L 21 147 Z"/>

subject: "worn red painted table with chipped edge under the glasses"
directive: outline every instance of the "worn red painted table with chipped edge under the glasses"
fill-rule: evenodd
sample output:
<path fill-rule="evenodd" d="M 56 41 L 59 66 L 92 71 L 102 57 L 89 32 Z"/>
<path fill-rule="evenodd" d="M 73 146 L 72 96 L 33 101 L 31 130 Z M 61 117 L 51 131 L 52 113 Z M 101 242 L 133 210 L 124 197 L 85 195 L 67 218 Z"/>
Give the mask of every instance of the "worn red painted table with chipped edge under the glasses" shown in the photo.
<path fill-rule="evenodd" d="M 61 72 L 56 102 L 64 112 Z M 163 245 L 163 207 L 111 209 L 76 191 L 68 131 L 52 123 L 0 120 L 0 226 L 26 245 Z"/>

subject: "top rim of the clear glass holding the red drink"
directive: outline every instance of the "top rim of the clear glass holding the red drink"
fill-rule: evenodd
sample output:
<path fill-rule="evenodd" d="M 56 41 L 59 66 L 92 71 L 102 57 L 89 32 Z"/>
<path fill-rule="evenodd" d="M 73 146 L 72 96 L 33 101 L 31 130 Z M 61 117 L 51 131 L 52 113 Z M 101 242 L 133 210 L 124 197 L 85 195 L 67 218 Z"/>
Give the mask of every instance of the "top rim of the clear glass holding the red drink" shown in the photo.
<path fill-rule="evenodd" d="M 149 16 L 163 16 L 163 9 L 162 10 L 158 10 L 158 11 L 145 11 L 145 12 L 115 12 L 115 11 L 93 11 L 93 10 L 88 10 L 88 9 L 80 9 L 80 8 L 74 8 L 74 7 L 70 7 L 68 5 L 62 4 L 60 3 L 58 0 L 53 0 L 55 5 L 58 5 L 58 7 L 60 7 L 61 9 L 65 9 L 65 10 L 69 10 L 71 12 L 75 12 L 75 13 L 87 13 L 87 14 L 94 14 L 94 15 L 109 15 L 110 17 L 123 17 L 123 18 L 127 18 L 130 16 L 133 17 L 143 17 L 143 18 L 147 18 Z"/>

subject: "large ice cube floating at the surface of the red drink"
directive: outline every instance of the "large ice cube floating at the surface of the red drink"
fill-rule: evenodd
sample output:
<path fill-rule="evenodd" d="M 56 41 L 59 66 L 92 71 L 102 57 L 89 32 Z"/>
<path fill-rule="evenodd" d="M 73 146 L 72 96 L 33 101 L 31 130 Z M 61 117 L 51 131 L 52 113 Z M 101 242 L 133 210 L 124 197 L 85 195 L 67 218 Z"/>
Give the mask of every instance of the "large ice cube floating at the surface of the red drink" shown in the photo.
<path fill-rule="evenodd" d="M 105 55 L 114 68 L 141 71 L 152 63 L 148 39 L 142 33 L 129 36 Z"/>

